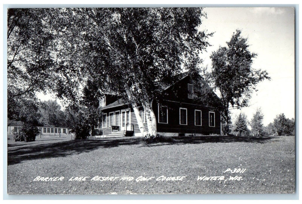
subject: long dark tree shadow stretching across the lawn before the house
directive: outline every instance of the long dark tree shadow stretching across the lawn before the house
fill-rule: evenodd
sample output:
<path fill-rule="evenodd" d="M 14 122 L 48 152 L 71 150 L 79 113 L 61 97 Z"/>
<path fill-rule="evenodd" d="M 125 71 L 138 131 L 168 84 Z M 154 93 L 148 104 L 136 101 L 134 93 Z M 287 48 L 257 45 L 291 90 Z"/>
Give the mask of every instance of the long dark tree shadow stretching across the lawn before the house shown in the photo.
<path fill-rule="evenodd" d="M 35 143 L 18 143 L 8 145 L 8 165 L 18 164 L 26 160 L 40 158 L 66 157 L 93 151 L 98 148 L 113 148 L 121 145 L 140 145 L 138 147 L 151 147 L 160 145 L 200 144 L 200 143 L 226 143 L 226 142 L 252 142 L 264 143 L 277 141 L 275 137 L 234 137 L 234 136 L 194 136 L 194 137 L 167 137 L 163 141 L 145 142 L 142 138 L 105 138 L 88 140 L 55 141 L 43 144 L 44 141 Z M 280 140 L 278 140 L 280 141 Z"/>

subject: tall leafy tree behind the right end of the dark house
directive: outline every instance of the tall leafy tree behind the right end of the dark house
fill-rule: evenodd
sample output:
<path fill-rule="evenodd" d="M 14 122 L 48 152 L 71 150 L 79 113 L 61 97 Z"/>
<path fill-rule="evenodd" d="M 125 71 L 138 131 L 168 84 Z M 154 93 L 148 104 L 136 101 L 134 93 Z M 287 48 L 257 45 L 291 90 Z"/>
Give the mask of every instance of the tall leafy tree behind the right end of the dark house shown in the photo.
<path fill-rule="evenodd" d="M 257 56 L 249 51 L 247 38 L 241 36 L 241 30 L 233 33 L 226 47 L 219 47 L 210 56 L 212 69 L 206 77 L 212 87 L 219 91 L 223 104 L 222 116 L 226 122 L 228 133 L 229 115 L 231 109 L 248 106 L 256 85 L 265 79 L 270 79 L 266 71 L 253 69 L 252 62 Z"/>

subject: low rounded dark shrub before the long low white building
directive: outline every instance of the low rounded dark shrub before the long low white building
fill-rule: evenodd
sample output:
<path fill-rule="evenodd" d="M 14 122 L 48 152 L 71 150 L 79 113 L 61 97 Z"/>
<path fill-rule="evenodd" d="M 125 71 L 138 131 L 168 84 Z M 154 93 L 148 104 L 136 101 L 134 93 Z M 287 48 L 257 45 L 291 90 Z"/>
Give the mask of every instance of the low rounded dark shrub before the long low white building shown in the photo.
<path fill-rule="evenodd" d="M 21 129 L 20 132 L 14 133 L 14 141 L 20 142 L 32 142 L 35 141 L 36 136 L 39 134 L 39 129 L 31 124 L 25 124 Z"/>

